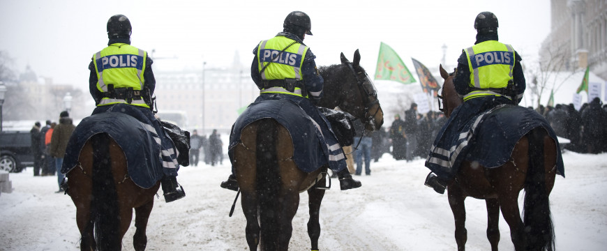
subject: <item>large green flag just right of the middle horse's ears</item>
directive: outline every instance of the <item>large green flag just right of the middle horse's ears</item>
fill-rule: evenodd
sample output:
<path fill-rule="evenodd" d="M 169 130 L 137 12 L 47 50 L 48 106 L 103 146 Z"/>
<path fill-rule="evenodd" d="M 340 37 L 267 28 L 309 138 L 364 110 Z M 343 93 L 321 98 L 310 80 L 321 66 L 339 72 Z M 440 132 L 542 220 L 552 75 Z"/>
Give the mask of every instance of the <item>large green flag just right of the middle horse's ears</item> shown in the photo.
<path fill-rule="evenodd" d="M 393 80 L 403 84 L 415 82 L 413 75 L 411 75 L 403 60 L 400 59 L 400 56 L 384 43 L 380 44 L 380 56 L 377 57 L 375 79 Z"/>

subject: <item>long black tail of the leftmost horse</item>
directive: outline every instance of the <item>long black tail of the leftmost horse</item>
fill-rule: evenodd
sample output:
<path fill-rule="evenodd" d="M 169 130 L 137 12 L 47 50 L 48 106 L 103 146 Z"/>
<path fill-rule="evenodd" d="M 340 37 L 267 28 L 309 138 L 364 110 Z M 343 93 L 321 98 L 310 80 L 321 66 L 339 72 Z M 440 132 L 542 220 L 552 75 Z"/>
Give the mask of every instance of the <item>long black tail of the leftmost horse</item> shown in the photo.
<path fill-rule="evenodd" d="M 121 250 L 118 194 L 112 175 L 110 137 L 106 133 L 99 133 L 90 140 L 93 146 L 91 221 L 97 250 Z"/>

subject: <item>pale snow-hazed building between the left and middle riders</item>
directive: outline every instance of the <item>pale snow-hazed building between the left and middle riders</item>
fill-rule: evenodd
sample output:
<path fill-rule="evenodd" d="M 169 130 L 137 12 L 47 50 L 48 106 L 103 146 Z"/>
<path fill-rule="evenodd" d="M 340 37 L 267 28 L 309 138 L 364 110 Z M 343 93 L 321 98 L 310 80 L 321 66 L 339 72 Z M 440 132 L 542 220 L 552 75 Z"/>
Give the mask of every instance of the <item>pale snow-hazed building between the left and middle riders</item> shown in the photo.
<path fill-rule="evenodd" d="M 158 112 L 185 112 L 185 129 L 196 129 L 199 134 L 208 135 L 213 129 L 229 134 L 239 111 L 259 96 L 259 89 L 250 78 L 250 69 L 204 66 L 197 70 L 155 70 Z"/>

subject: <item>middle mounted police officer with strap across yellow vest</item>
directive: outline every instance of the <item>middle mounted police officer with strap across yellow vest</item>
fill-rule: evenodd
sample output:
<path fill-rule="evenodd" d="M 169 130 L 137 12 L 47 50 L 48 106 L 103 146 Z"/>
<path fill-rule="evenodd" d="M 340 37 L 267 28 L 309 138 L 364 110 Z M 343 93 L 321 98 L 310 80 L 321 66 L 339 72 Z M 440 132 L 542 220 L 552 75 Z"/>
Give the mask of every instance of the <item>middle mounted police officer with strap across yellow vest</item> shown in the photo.
<path fill-rule="evenodd" d="M 324 80 L 318 74 L 314 61 L 316 56 L 303 42 L 306 35 L 312 35 L 311 28 L 310 17 L 301 11 L 294 11 L 285 18 L 283 32 L 261 41 L 255 47 L 251 77 L 260 89 L 260 96 L 255 102 L 288 99 L 299 105 L 320 126 L 322 135 L 331 146 L 327 156 L 329 168 L 338 175 L 341 190 L 359 188 L 361 183 L 348 172 L 345 155 L 329 129 L 327 119 L 314 105 L 322 97 Z M 221 187 L 238 190 L 234 169 Z"/>

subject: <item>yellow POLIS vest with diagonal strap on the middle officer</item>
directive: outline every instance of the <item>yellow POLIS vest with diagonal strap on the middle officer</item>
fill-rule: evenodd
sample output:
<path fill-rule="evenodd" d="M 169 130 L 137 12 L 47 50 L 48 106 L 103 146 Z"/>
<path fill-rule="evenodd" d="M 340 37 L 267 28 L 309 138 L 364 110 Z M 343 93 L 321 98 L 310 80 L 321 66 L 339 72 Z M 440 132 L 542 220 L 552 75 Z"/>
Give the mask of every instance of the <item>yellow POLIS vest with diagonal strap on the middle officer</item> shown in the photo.
<path fill-rule="evenodd" d="M 257 47 L 257 67 L 263 80 L 304 79 L 301 74 L 301 66 L 304 63 L 308 47 L 294 42 L 294 40 L 284 36 L 276 36 L 260 42 L 259 47 Z M 287 49 L 285 50 L 285 48 Z M 282 52 L 283 50 L 285 51 Z M 306 94 L 302 93 L 299 87 L 296 87 L 293 92 L 282 87 L 271 87 L 262 89 L 260 93 L 285 93 L 301 97 Z"/>

